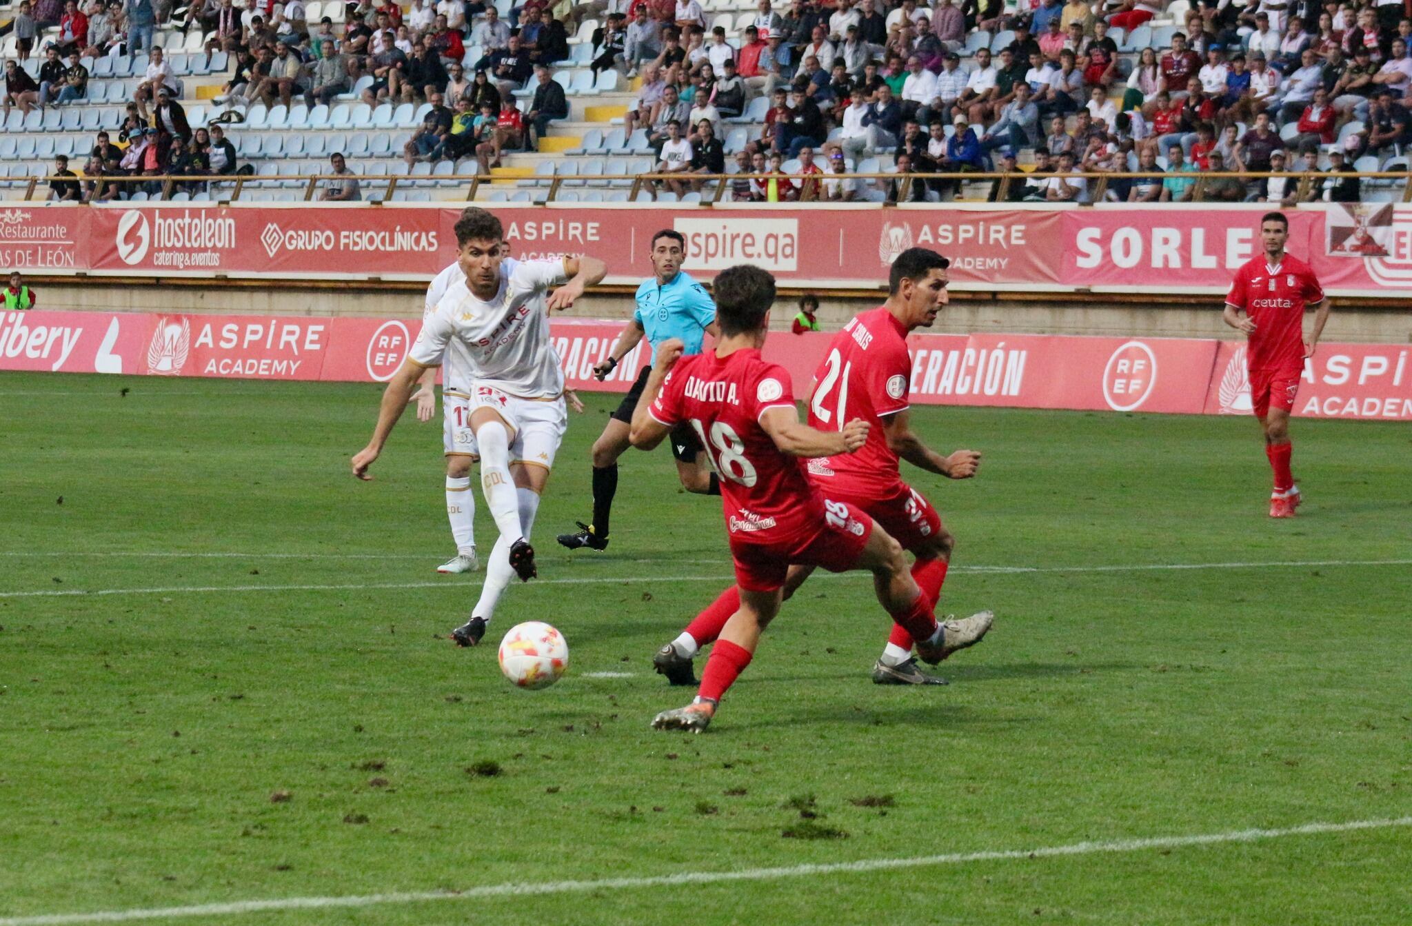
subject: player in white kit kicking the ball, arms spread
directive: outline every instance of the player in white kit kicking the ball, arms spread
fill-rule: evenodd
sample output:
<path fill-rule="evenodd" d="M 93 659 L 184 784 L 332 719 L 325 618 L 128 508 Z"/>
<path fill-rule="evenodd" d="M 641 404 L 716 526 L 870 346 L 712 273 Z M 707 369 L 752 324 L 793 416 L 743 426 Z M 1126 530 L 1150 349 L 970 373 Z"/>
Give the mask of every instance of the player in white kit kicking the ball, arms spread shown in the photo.
<path fill-rule="evenodd" d="M 607 274 L 607 265 L 593 257 L 515 261 L 507 257 L 503 237 L 493 213 L 462 213 L 456 263 L 465 278 L 448 287 L 422 325 L 407 360 L 387 383 L 373 439 L 352 460 L 353 474 L 370 479 L 369 467 L 425 370 L 441 366 L 448 353 L 465 357 L 480 481 L 500 538 L 486 565 L 480 600 L 470 620 L 452 634 L 462 647 L 480 642 L 511 576 L 528 582 L 537 575 L 530 531 L 568 425 L 563 371 L 549 343 L 548 315 L 573 305 L 586 287 Z M 549 287 L 558 284 L 563 285 L 549 295 Z"/>

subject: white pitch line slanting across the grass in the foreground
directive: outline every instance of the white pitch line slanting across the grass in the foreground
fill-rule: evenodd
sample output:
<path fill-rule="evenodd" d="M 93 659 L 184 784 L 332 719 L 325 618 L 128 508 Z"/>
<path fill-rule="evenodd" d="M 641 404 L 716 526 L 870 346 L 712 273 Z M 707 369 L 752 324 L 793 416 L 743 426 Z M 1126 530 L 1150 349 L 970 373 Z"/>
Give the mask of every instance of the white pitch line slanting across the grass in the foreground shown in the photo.
<path fill-rule="evenodd" d="M 275 898 L 268 901 L 234 901 L 230 903 L 201 903 L 193 906 L 158 906 L 148 909 L 103 910 L 96 913 L 49 913 L 41 916 L 0 918 L 0 926 L 72 926 L 76 923 L 120 923 L 138 919 L 179 919 L 191 916 L 236 916 L 270 910 L 337 909 L 387 906 L 394 903 L 424 903 L 431 901 L 473 901 L 500 896 L 545 896 L 554 894 L 587 894 L 593 891 L 624 891 L 635 888 L 671 888 L 681 885 L 727 884 L 736 881 L 774 881 L 836 874 L 864 874 L 904 868 L 963 865 L 977 861 L 1019 861 L 1093 855 L 1100 853 L 1137 853 L 1144 850 L 1185 848 L 1189 846 L 1220 846 L 1224 843 L 1255 843 L 1286 836 L 1317 836 L 1381 830 L 1412 826 L 1412 817 L 1381 820 L 1353 820 L 1348 823 L 1305 823 L 1269 830 L 1233 830 L 1197 836 L 1156 836 L 1123 838 L 1100 843 L 1070 843 L 1042 848 L 1011 848 L 981 853 L 949 853 L 945 855 L 916 855 L 914 858 L 864 858 L 816 865 L 788 865 L 779 868 L 743 868 L 737 871 L 682 871 L 674 875 L 645 878 L 602 878 L 596 881 L 545 881 L 539 884 L 493 884 L 465 891 L 404 891 L 397 894 L 363 894 L 346 896 Z"/>

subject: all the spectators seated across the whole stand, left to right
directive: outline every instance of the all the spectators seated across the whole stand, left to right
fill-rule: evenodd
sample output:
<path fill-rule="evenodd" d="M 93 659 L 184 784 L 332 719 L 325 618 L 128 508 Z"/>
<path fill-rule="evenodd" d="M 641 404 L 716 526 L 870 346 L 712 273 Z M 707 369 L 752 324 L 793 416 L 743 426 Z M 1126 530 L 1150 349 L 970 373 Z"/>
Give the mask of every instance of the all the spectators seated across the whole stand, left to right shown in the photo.
<path fill-rule="evenodd" d="M 1412 141 L 1404 1 L 789 0 L 777 10 L 758 0 L 727 28 L 709 27 L 699 0 L 528 0 L 504 18 L 481 0 L 412 0 L 407 10 L 357 0 L 337 25 L 308 23 L 302 0 L 193 0 L 181 23 L 169 0 L 82 10 L 79 0 L 25 0 L 10 25 L 17 56 L 44 61 L 37 78 L 6 64 L 3 104 L 8 114 L 83 99 L 86 59 L 145 49 L 128 119 L 104 133 L 119 157 L 95 145 L 88 167 L 233 172 L 233 150 L 212 152 L 216 130 L 192 131 L 179 80 L 152 47 L 158 25 L 175 25 L 208 37 L 208 61 L 232 56 L 219 106 L 326 104 L 366 76 L 369 104 L 426 104 L 402 151 L 408 168 L 473 157 L 489 172 L 569 116 L 554 65 L 592 18 L 585 59 L 596 75 L 640 79 L 626 130 L 645 130 L 664 175 L 654 186 L 678 195 L 727 171 L 755 175 L 731 184 L 741 200 L 849 200 L 868 188 L 945 200 L 960 189 L 945 176 L 851 176 L 878 157 L 899 174 L 1014 172 L 991 185 L 1005 199 L 1086 202 L 1094 175 L 1139 168 L 1172 176 L 1114 176 L 1103 196 L 1343 199 L 1357 198 L 1358 182 L 1334 175 Z M 1156 17 L 1176 21 L 1152 30 Z M 40 35 L 52 37 L 44 48 Z M 743 114 L 760 121 L 727 157 L 727 120 Z M 1279 168 L 1330 176 L 1220 176 Z"/>

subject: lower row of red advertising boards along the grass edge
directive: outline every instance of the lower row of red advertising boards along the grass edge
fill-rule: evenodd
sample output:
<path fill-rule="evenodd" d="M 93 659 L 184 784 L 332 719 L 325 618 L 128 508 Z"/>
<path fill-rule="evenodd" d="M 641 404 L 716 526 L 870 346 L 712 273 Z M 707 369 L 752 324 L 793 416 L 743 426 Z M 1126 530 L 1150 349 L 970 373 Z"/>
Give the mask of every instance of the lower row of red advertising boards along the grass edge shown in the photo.
<path fill-rule="evenodd" d="M 0 313 L 0 370 L 246 380 L 384 381 L 402 364 L 417 320 L 232 315 Z M 650 361 L 640 344 L 599 383 L 621 322 L 556 319 L 555 350 L 572 388 L 626 392 Z M 777 333 L 765 357 L 802 395 L 830 333 Z M 1238 342 L 1048 335 L 912 335 L 918 405 L 1250 414 Z M 1320 344 L 1295 412 L 1412 421 L 1412 347 Z"/>

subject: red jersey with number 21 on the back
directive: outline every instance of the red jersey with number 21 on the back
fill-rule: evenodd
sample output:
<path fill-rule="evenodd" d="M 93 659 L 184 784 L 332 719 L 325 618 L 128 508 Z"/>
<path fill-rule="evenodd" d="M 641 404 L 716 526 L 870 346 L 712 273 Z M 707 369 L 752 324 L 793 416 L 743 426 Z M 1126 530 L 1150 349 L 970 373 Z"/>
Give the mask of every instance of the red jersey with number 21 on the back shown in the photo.
<path fill-rule="evenodd" d="M 885 308 L 856 315 L 833 340 L 815 371 L 809 425 L 843 431 L 854 418 L 868 422 L 868 440 L 857 453 L 809 462 L 809 476 L 827 494 L 849 498 L 887 498 L 897 494 L 902 476 L 897 455 L 887 446 L 882 418 L 908 407 L 912 359 L 907 329 Z"/>

